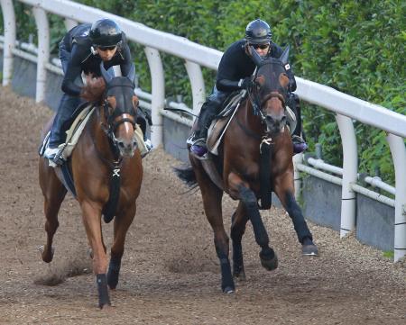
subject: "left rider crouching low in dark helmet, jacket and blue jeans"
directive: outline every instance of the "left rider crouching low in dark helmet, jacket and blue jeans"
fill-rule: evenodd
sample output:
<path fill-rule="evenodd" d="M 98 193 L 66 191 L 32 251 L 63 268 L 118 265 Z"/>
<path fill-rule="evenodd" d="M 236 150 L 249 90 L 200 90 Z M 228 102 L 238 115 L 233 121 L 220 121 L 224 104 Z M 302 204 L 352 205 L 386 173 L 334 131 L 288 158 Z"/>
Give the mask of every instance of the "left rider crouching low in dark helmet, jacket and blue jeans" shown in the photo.
<path fill-rule="evenodd" d="M 133 59 L 125 33 L 115 21 L 105 18 L 93 24 L 79 24 L 67 32 L 60 41 L 60 61 L 64 74 L 61 86 L 64 94 L 44 151 L 45 158 L 57 165 L 63 163 L 58 147 L 65 141 L 65 132 L 69 127 L 67 124 L 74 110 L 83 103 L 80 98 L 84 86 L 82 72 L 88 76 L 100 77 L 100 63 L 103 61 L 106 69 L 119 65 L 125 77 L 130 72 Z M 102 86 L 103 83 L 102 80 L 91 77 L 87 81 L 93 86 Z"/>

